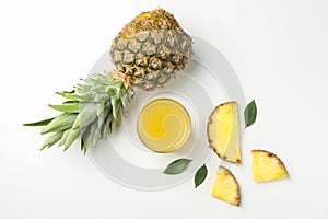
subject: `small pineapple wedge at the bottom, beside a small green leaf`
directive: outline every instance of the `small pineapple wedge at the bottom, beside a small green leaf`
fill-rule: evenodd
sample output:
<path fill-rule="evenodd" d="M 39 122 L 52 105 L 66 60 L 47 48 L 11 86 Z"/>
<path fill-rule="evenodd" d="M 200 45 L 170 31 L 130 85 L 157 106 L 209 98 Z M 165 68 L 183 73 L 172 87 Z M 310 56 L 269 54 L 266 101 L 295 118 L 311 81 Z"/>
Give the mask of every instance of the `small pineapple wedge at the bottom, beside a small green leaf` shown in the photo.
<path fill-rule="evenodd" d="M 224 166 L 220 165 L 212 188 L 212 197 L 239 206 L 239 185 L 235 176 Z"/>

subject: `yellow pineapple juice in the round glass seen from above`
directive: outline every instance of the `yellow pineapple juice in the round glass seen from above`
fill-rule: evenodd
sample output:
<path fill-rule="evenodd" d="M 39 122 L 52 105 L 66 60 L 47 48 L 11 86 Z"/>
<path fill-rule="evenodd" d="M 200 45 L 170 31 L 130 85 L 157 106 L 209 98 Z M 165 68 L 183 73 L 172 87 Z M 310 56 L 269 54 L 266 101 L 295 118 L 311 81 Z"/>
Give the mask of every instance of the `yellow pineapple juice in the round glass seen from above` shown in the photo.
<path fill-rule="evenodd" d="M 156 99 L 141 110 L 137 130 L 147 148 L 168 153 L 187 141 L 190 125 L 190 116 L 180 103 L 171 99 Z"/>

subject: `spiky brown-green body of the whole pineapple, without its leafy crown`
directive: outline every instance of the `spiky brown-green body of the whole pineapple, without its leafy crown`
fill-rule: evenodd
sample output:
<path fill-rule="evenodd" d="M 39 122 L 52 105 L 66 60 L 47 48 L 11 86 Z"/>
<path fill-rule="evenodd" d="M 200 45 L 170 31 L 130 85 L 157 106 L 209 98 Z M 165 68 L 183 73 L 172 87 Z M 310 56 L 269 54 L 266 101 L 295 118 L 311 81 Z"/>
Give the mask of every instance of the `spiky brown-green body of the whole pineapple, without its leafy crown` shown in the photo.
<path fill-rule="evenodd" d="M 185 69 L 192 55 L 191 37 L 163 9 L 143 12 L 112 43 L 110 58 L 132 85 L 145 91 L 163 87 Z"/>

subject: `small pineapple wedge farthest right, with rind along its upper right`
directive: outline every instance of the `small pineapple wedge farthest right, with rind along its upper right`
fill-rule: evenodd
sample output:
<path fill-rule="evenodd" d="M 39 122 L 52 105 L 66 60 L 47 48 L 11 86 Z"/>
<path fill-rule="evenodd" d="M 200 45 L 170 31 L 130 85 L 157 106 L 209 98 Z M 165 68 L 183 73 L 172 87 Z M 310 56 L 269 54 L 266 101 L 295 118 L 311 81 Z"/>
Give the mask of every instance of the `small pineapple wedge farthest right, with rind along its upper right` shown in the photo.
<path fill-rule="evenodd" d="M 268 182 L 288 177 L 283 162 L 273 153 L 253 150 L 253 178 L 255 182 Z"/>

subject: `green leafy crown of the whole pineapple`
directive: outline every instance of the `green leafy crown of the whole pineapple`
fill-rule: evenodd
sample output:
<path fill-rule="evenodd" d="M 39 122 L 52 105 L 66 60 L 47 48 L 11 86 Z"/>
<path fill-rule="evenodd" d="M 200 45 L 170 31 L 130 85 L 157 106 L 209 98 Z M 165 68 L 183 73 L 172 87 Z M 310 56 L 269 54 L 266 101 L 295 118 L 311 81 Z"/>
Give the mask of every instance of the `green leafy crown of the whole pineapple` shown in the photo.
<path fill-rule="evenodd" d="M 42 150 L 59 142 L 67 150 L 81 137 L 81 150 L 85 153 L 87 146 L 95 145 L 104 132 L 112 134 L 113 126 L 119 125 L 121 114 L 127 114 L 128 102 L 134 95 L 127 90 L 113 72 L 95 73 L 81 79 L 72 92 L 57 92 L 67 101 L 60 105 L 49 106 L 61 112 L 59 116 L 25 126 L 45 126 L 42 134 L 50 134 Z"/>

